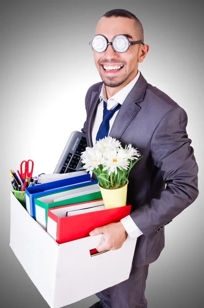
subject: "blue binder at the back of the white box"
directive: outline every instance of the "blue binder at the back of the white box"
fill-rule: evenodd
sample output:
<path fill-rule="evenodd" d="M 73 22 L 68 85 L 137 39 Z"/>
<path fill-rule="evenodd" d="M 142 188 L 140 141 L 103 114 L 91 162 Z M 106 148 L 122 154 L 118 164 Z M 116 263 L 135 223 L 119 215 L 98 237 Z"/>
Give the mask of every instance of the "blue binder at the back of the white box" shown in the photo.
<path fill-rule="evenodd" d="M 34 198 L 49 195 L 49 194 L 54 194 L 54 192 L 59 192 L 59 191 L 72 189 L 76 187 L 81 187 L 87 184 L 85 182 L 89 182 L 89 181 L 90 181 L 90 174 L 86 174 L 86 175 L 82 175 L 79 177 L 73 177 L 73 178 L 68 178 L 68 179 L 63 179 L 59 181 L 54 181 L 54 182 L 38 184 L 35 186 L 27 187 L 25 189 L 26 209 L 28 213 L 30 214 L 30 216 L 32 216 L 35 219 Z"/>

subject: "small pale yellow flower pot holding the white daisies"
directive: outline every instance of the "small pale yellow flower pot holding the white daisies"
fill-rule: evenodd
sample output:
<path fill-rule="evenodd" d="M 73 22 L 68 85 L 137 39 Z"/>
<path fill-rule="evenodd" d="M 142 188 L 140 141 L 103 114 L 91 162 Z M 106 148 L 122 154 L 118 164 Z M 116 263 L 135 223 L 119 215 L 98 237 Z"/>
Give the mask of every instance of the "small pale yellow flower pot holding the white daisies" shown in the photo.
<path fill-rule="evenodd" d="M 120 207 L 126 205 L 127 199 L 127 183 L 121 187 L 116 189 L 106 189 L 102 188 L 99 184 L 101 195 L 104 201 L 105 208 L 113 208 Z"/>

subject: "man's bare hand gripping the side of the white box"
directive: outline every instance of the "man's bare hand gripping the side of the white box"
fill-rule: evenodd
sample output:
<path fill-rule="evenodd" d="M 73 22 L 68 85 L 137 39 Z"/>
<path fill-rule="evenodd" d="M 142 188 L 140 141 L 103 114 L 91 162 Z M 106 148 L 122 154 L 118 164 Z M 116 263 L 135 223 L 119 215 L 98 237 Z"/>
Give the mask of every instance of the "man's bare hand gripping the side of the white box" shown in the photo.
<path fill-rule="evenodd" d="M 96 228 L 89 233 L 90 236 L 99 234 L 103 234 L 103 241 L 101 245 L 96 248 L 99 253 L 105 250 L 119 249 L 127 238 L 127 233 L 121 221 Z"/>

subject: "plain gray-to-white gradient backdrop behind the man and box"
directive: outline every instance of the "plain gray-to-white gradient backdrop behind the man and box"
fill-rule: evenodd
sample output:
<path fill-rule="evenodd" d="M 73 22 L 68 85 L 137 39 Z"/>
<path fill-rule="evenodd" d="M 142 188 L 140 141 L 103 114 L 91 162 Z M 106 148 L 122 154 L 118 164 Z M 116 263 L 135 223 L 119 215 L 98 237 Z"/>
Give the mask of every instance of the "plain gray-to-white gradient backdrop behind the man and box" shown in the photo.
<path fill-rule="evenodd" d="M 48 307 L 9 247 L 8 170 L 33 159 L 34 175 L 52 173 L 71 131 L 81 129 L 86 91 L 100 81 L 88 42 L 113 8 L 142 22 L 150 51 L 139 69 L 187 111 L 199 165 L 199 197 L 166 227 L 165 249 L 150 266 L 149 307 L 203 307 L 203 5 L 145 0 L 1 4 L 1 307 Z M 93 295 L 69 307 L 96 301 Z"/>

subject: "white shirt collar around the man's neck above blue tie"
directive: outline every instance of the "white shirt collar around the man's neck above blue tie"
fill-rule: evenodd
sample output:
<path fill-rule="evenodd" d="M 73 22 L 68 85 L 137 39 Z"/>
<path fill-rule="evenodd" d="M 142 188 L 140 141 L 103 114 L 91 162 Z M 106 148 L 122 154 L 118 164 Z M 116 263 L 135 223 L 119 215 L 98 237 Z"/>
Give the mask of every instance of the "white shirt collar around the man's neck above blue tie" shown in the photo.
<path fill-rule="evenodd" d="M 132 90 L 132 88 L 138 81 L 139 76 L 140 76 L 140 71 L 138 70 L 138 73 L 135 76 L 135 78 L 131 82 L 129 82 L 124 88 L 122 88 L 120 91 L 114 94 L 113 97 L 109 99 L 107 99 L 105 85 L 103 84 L 100 95 L 99 95 L 100 102 L 104 100 L 107 103 L 107 105 L 108 103 L 113 103 L 113 102 L 116 102 L 117 104 L 120 103 L 122 105 L 127 95 L 129 94 L 129 92 Z"/>

